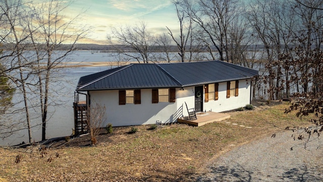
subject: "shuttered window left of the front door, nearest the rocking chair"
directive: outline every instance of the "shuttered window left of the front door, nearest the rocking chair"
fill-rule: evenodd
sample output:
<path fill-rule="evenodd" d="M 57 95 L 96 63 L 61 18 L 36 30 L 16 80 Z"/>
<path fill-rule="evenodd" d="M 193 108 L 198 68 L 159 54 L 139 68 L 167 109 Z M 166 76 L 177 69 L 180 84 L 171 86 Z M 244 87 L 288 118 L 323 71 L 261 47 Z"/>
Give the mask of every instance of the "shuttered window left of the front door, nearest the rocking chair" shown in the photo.
<path fill-rule="evenodd" d="M 152 89 L 152 103 L 158 102 L 175 102 L 176 101 L 176 89 L 175 88 L 159 88 Z"/>

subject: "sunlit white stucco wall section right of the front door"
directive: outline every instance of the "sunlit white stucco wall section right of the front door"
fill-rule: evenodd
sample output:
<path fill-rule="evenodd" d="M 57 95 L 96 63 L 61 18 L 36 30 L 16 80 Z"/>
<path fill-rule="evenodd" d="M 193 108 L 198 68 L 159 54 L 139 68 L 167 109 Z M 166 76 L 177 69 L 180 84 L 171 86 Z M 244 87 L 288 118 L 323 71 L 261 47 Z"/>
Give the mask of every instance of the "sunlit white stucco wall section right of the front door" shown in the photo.
<path fill-rule="evenodd" d="M 250 103 L 250 84 L 250 79 L 239 80 L 238 97 L 231 96 L 230 98 L 227 98 L 227 82 L 219 83 L 219 100 L 211 100 L 204 103 L 203 110 L 223 112 L 246 106 Z"/>

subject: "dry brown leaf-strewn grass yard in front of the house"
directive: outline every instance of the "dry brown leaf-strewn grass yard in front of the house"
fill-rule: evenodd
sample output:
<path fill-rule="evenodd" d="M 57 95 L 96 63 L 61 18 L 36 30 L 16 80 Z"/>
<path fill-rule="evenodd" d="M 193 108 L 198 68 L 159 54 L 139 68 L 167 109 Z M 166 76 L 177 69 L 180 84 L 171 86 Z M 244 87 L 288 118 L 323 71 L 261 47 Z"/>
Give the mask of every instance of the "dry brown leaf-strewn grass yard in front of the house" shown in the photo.
<path fill-rule="evenodd" d="M 143 125 L 134 134 L 127 133 L 131 127 L 116 127 L 112 134 L 99 135 L 96 146 L 82 136 L 58 149 L 63 141 L 52 144 L 42 154 L 35 147 L 0 149 L 0 181 L 194 181 L 222 153 L 278 127 L 307 123 L 294 113 L 284 114 L 286 107 L 234 112 L 228 120 L 200 127 L 172 124 L 149 130 Z M 19 163 L 17 155 L 23 156 Z"/>

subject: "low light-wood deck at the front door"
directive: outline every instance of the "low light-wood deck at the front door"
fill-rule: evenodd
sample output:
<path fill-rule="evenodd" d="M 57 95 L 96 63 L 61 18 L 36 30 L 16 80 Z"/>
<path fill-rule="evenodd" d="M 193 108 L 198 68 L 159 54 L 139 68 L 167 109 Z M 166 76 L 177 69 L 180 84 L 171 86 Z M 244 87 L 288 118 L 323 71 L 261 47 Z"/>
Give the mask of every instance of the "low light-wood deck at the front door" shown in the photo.
<path fill-rule="evenodd" d="M 180 117 L 177 119 L 177 122 L 186 123 L 194 126 L 202 126 L 207 123 L 228 119 L 230 118 L 230 115 L 225 113 L 216 113 L 216 112 L 207 111 L 206 113 L 204 112 L 196 113 L 196 117 L 197 119 L 195 120 L 188 120 L 187 118 Z"/>

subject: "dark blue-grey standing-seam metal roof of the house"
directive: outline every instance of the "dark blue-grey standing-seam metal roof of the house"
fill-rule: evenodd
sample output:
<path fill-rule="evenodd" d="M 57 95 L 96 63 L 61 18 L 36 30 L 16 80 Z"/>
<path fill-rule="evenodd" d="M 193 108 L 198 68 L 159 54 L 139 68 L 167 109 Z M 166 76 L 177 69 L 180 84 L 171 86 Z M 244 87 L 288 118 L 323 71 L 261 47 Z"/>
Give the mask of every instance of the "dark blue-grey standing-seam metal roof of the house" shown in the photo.
<path fill-rule="evenodd" d="M 76 90 L 185 87 L 255 75 L 257 70 L 223 61 L 130 64 L 83 76 Z"/>

